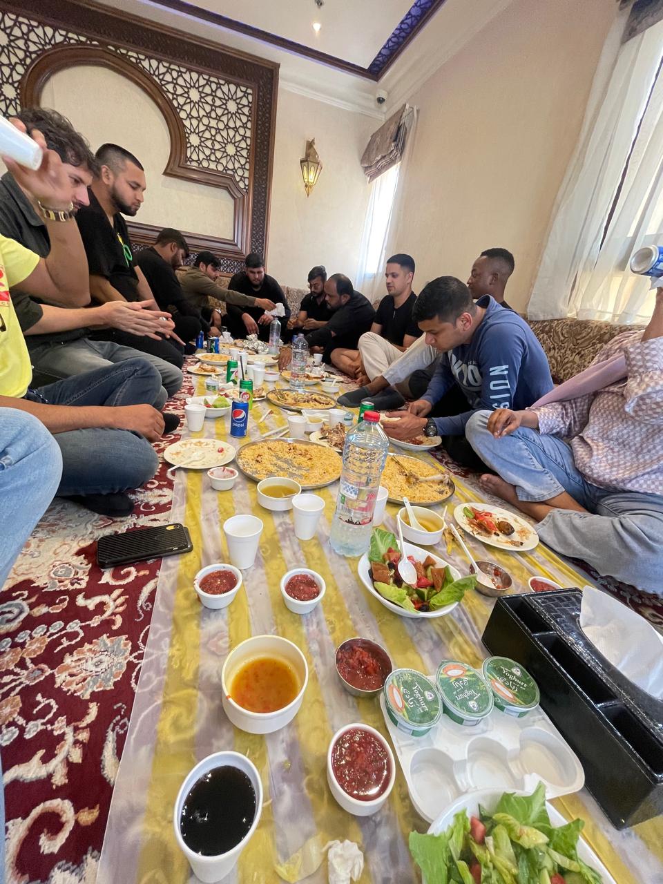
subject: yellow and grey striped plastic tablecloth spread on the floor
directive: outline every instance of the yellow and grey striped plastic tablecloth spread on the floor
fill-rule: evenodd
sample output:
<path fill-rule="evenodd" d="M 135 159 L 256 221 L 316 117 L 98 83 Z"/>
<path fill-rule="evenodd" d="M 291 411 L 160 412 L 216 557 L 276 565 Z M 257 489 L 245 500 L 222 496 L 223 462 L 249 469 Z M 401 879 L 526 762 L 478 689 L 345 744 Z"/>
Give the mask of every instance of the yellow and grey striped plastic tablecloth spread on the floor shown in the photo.
<path fill-rule="evenodd" d="M 202 383 L 199 392 L 203 392 Z M 256 403 L 252 415 L 263 410 L 265 403 Z M 285 412 L 271 415 L 260 427 L 252 416 L 249 438 L 285 425 Z M 221 418 L 206 421 L 203 431 L 194 436 L 216 435 L 232 441 L 228 431 L 229 421 Z M 184 431 L 183 438 L 187 435 Z M 480 499 L 469 484 L 455 481 L 452 505 Z M 342 811 L 327 787 L 326 753 L 337 728 L 360 721 L 386 735 L 377 700 L 351 697 L 341 687 L 334 651 L 347 637 L 359 635 L 384 645 L 397 667 L 432 672 L 445 657 L 476 666 L 486 654 L 481 635 L 492 599 L 472 592 L 453 613 L 429 621 L 408 620 L 387 611 L 359 583 L 357 560 L 331 551 L 329 530 L 336 489 L 333 484 L 319 492 L 326 506 L 318 537 L 299 541 L 294 537 L 292 515 L 272 514 L 259 507 L 255 484 L 243 476 L 232 492 L 217 493 L 204 471 L 176 473 L 171 520 L 188 526 L 194 551 L 165 559 L 161 569 L 98 884 L 195 880 L 175 842 L 173 804 L 191 767 L 210 752 L 224 749 L 243 752 L 254 761 L 263 778 L 265 799 L 260 825 L 225 880 L 241 884 L 281 880 L 277 866 L 283 871 L 286 865 L 292 871 L 305 844 L 310 848 L 337 839 L 360 845 L 365 855 L 364 884 L 420 880 L 409 857 L 408 833 L 413 828 L 425 831 L 428 825 L 409 800 L 400 768 L 388 803 L 374 817 L 359 819 Z M 397 509 L 388 505 L 385 527 L 393 528 Z M 193 578 L 204 565 L 227 561 L 221 525 L 236 513 L 255 513 L 263 520 L 260 551 L 254 568 L 244 572 L 244 586 L 232 605 L 210 611 L 201 606 Z M 476 540 L 469 540 L 469 545 L 475 553 L 484 550 Z M 440 554 L 446 558 L 446 551 Z M 451 558 L 467 570 L 457 552 Z M 526 591 L 528 578 L 535 574 L 551 577 L 562 586 L 587 583 L 586 576 L 543 545 L 527 553 L 491 550 L 490 558 L 511 573 L 516 592 Z M 323 602 L 305 617 L 287 611 L 279 591 L 281 575 L 298 565 L 314 568 L 327 583 Z M 220 696 L 226 655 L 243 639 L 262 633 L 289 638 L 309 663 L 309 685 L 300 713 L 287 728 L 266 736 L 233 728 Z M 618 884 L 663 884 L 660 819 L 618 833 L 586 790 L 554 804 L 568 818 L 585 820 L 586 840 Z M 297 880 L 297 874 L 291 879 Z M 327 880 L 326 860 L 307 880 Z"/>

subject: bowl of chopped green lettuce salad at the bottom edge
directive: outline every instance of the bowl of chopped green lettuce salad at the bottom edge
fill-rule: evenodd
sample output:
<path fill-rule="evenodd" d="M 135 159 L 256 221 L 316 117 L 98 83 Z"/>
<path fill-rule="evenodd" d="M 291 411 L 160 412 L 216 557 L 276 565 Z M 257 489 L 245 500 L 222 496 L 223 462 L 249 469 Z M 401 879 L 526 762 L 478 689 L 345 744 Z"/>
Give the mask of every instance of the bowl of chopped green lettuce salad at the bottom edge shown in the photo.
<path fill-rule="evenodd" d="M 427 834 L 410 833 L 409 847 L 423 884 L 616 884 L 583 825 L 546 802 L 543 783 L 531 795 L 486 789 L 457 798 Z"/>

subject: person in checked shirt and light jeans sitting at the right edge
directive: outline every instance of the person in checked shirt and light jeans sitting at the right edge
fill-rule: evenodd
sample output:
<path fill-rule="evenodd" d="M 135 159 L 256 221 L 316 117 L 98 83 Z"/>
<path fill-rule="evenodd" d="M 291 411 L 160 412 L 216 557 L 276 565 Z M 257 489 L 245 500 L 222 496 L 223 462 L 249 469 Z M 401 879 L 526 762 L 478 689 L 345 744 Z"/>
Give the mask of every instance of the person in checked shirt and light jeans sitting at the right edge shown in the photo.
<path fill-rule="evenodd" d="M 591 368 L 526 411 L 473 415 L 484 487 L 536 519 L 552 549 L 661 594 L 663 289 L 645 331 L 613 338 Z"/>

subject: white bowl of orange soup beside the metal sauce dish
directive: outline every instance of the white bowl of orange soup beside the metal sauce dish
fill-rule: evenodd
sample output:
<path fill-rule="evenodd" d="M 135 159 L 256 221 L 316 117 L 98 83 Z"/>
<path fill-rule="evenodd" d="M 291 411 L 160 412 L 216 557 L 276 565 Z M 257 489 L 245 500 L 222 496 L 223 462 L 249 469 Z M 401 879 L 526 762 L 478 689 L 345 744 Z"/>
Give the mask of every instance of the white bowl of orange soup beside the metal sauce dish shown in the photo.
<path fill-rule="evenodd" d="M 222 703 L 236 728 L 271 734 L 299 712 L 309 667 L 296 644 L 281 636 L 253 636 L 226 657 Z"/>

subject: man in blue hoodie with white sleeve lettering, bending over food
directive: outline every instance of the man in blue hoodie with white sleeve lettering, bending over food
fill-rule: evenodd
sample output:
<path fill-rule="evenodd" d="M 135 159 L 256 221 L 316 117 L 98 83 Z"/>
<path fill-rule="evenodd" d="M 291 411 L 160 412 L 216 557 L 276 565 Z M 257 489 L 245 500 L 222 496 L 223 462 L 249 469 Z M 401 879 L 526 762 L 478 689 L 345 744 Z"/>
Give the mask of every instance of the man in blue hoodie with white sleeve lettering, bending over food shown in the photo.
<path fill-rule="evenodd" d="M 465 439 L 465 424 L 478 409 L 527 408 L 552 390 L 543 348 L 517 313 L 489 294 L 473 301 L 468 286 L 454 277 L 428 283 L 412 318 L 425 343 L 442 357 L 423 397 L 405 412 L 390 412 L 399 420 L 385 423 L 385 431 L 402 440 L 441 436 L 454 460 L 480 467 Z M 445 416 L 429 417 L 433 406 Z"/>

